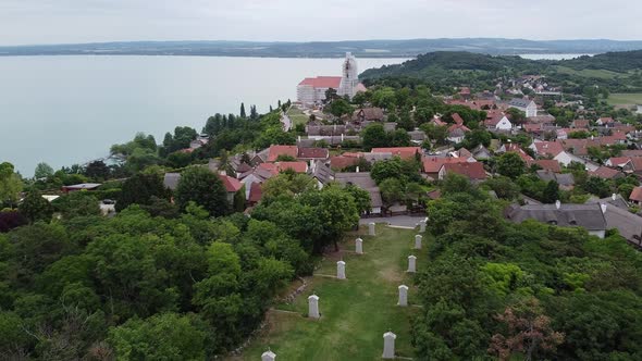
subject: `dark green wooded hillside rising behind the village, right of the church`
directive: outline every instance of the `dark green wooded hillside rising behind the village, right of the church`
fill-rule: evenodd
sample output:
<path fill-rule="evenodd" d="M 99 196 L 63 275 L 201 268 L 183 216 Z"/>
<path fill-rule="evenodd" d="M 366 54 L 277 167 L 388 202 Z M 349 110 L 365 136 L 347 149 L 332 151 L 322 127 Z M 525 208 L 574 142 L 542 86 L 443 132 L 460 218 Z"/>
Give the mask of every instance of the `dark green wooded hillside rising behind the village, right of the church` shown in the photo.
<path fill-rule="evenodd" d="M 583 87 L 600 86 L 614 92 L 639 92 L 642 91 L 641 70 L 642 50 L 561 61 L 441 51 L 402 64 L 371 69 L 359 77 L 366 85 L 428 83 L 435 90 L 447 91 L 459 86 L 492 89 L 498 79 L 541 74 L 565 91 L 581 92 Z"/>

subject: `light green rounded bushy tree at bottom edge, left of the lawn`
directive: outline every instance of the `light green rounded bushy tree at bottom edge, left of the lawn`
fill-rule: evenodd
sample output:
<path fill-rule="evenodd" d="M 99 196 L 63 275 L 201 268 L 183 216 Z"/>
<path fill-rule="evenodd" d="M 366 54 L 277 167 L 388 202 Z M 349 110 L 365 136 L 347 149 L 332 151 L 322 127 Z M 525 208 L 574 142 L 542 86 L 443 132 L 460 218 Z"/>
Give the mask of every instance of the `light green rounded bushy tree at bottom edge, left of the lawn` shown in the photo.
<path fill-rule="evenodd" d="M 156 314 L 109 329 L 119 360 L 203 360 L 207 333 L 196 315 Z"/>

